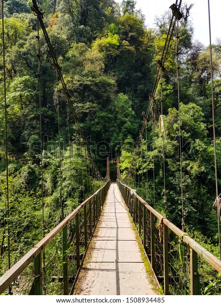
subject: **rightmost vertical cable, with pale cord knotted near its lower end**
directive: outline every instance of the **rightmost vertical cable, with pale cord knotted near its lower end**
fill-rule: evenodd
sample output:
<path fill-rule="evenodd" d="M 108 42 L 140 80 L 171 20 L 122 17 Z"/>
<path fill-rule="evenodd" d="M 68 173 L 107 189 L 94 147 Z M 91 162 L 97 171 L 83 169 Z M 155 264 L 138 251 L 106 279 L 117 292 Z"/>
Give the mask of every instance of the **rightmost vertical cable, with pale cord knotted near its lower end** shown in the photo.
<path fill-rule="evenodd" d="M 209 36 L 210 36 L 210 69 L 211 69 L 211 99 L 212 99 L 212 118 L 213 118 L 213 145 L 214 145 L 214 166 L 215 166 L 215 184 L 216 184 L 216 201 L 217 206 L 217 223 L 218 223 L 218 241 L 219 254 L 221 260 L 221 232 L 220 232 L 220 207 L 219 207 L 219 190 L 218 190 L 218 173 L 217 173 L 217 147 L 216 147 L 216 129 L 215 129 L 215 109 L 214 109 L 214 92 L 213 92 L 213 57 L 212 57 L 212 38 L 211 38 L 211 19 L 210 19 L 210 0 L 208 0 L 209 16 Z"/>

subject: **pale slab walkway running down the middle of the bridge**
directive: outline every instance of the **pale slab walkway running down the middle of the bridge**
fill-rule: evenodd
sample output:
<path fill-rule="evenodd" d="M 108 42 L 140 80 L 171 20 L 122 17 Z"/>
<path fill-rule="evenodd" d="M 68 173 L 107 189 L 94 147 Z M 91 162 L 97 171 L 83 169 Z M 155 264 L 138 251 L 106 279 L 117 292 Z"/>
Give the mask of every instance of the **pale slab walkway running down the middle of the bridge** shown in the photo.
<path fill-rule="evenodd" d="M 111 183 L 75 295 L 156 295 L 116 183 Z"/>

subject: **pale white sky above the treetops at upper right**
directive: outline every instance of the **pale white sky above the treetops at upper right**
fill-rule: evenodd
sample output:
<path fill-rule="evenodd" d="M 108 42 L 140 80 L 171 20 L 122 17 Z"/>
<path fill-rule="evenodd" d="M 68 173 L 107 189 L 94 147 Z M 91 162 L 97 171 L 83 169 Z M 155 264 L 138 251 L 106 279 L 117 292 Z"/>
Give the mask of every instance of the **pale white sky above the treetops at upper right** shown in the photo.
<path fill-rule="evenodd" d="M 146 16 L 146 25 L 155 28 L 155 17 L 163 15 L 172 3 L 175 3 L 175 0 L 137 0 L 136 7 L 141 8 Z M 183 0 L 183 3 L 194 4 L 189 17 L 193 22 L 193 39 L 199 40 L 205 46 L 209 45 L 208 0 Z M 210 14 L 212 43 L 215 43 L 216 38 L 221 38 L 221 0 L 210 0 Z"/>

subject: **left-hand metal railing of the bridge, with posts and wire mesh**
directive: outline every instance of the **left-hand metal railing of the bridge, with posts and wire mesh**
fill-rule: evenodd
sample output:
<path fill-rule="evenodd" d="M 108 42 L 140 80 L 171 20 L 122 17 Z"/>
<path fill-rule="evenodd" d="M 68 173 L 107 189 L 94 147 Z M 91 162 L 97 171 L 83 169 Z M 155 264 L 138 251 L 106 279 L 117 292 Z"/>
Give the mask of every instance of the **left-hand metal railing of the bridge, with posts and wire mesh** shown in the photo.
<path fill-rule="evenodd" d="M 71 294 L 110 185 L 109 180 L 3 274 L 0 294 L 12 283 L 14 294 L 42 295 L 53 291 L 55 294 L 57 291 L 63 295 Z M 50 243 L 51 248 L 47 250 Z M 15 286 L 18 276 L 21 287 Z"/>

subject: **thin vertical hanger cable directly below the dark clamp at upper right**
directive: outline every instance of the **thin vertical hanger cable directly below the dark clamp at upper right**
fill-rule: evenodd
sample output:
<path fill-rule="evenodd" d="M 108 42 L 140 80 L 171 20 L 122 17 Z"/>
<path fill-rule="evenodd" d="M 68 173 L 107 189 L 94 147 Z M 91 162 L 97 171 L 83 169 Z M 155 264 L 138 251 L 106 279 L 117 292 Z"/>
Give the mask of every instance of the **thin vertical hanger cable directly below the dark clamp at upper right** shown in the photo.
<path fill-rule="evenodd" d="M 182 143 L 181 143 L 181 110 L 180 110 L 180 83 L 179 83 L 179 21 L 176 26 L 176 78 L 177 78 L 177 94 L 178 94 L 178 112 L 179 112 L 179 157 L 180 157 L 180 188 L 181 188 L 181 208 L 182 208 L 182 231 L 184 231 L 184 206 L 183 206 L 183 157 L 182 157 Z"/>

